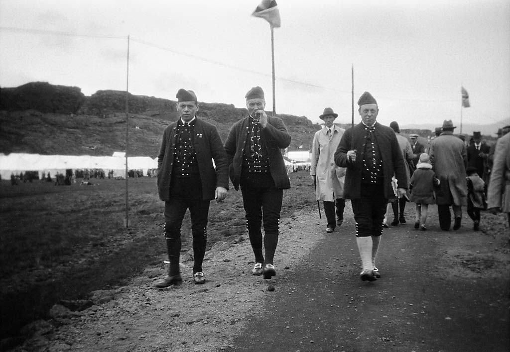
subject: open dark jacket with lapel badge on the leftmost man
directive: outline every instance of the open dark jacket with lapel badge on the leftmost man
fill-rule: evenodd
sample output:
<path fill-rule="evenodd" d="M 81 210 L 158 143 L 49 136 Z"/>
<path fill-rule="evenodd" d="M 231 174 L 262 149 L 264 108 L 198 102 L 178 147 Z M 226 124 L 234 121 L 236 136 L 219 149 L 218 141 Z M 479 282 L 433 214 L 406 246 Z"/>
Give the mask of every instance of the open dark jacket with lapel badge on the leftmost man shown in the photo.
<path fill-rule="evenodd" d="M 171 198 L 170 181 L 178 121 L 172 122 L 165 128 L 158 155 L 158 193 L 160 199 L 165 202 Z M 225 149 L 216 127 L 198 118 L 196 118 L 192 141 L 202 182 L 203 199 L 212 200 L 215 197 L 216 187 L 228 189 L 228 165 Z"/>

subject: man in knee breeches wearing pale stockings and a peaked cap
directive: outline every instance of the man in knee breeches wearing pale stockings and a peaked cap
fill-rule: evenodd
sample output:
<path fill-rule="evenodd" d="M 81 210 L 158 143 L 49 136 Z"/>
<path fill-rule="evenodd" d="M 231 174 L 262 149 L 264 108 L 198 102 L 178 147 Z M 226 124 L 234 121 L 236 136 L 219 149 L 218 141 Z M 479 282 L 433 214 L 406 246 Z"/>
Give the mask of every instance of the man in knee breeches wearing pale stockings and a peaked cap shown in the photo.
<path fill-rule="evenodd" d="M 356 222 L 356 242 L 363 264 L 360 278 L 374 281 L 381 276 L 375 259 L 388 199 L 403 197 L 408 186 L 395 132 L 376 122 L 377 101 L 365 92 L 358 105 L 361 122 L 345 131 L 335 153 L 335 163 L 347 168 L 344 199 L 351 200 Z M 395 190 L 394 175 L 398 180 Z"/>

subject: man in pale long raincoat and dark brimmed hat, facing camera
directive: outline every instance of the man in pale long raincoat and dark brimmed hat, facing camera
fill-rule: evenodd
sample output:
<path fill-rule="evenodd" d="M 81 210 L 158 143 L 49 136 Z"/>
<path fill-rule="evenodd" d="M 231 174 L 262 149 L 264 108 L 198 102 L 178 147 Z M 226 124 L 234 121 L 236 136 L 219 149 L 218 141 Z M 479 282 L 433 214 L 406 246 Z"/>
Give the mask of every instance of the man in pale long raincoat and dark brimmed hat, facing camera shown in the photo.
<path fill-rule="evenodd" d="M 335 227 L 342 225 L 344 221 L 345 201 L 342 197 L 345 168 L 335 165 L 334 156 L 345 129 L 334 123 L 337 117 L 338 114 L 330 107 L 326 107 L 319 116 L 324 121 L 324 127 L 315 132 L 310 166 L 310 176 L 316 186 L 316 198 L 324 204 L 328 233 L 333 232 Z"/>

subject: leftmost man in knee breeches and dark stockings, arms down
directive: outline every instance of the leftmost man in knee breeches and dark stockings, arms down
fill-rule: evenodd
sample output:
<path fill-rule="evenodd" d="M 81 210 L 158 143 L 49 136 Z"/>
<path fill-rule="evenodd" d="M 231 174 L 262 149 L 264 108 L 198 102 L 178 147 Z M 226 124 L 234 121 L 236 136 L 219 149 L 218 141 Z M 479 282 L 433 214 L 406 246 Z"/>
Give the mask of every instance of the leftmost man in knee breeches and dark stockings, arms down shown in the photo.
<path fill-rule="evenodd" d="M 199 106 L 193 91 L 180 89 L 176 97 L 179 120 L 165 128 L 158 155 L 158 193 L 165 202 L 164 235 L 170 262 L 168 276 L 156 283 L 158 288 L 182 283 L 181 225 L 187 209 L 193 235 L 193 281 L 206 282 L 202 261 L 209 203 L 212 199 L 221 202 L 228 190 L 227 157 L 216 127 L 196 117 Z"/>

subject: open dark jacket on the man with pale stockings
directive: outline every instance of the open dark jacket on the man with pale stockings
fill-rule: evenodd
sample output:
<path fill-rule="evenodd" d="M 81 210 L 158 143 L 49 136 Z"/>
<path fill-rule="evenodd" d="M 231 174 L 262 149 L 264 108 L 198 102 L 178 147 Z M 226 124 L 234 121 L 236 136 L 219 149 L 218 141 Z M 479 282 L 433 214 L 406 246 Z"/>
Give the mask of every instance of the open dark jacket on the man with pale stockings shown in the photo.
<path fill-rule="evenodd" d="M 407 189 L 409 187 L 405 173 L 404 157 L 392 128 L 376 122 L 374 134 L 382 159 L 385 198 L 392 198 L 394 194 L 391 186 L 391 178 L 394 174 L 395 178 L 398 180 L 399 188 Z M 344 182 L 344 198 L 346 199 L 358 199 L 361 197 L 362 153 L 365 150 L 365 143 L 365 125 L 360 122 L 344 132 L 337 151 L 335 152 L 335 163 L 337 166 L 347 168 Z M 349 163 L 347 160 L 347 152 L 354 149 L 356 150 L 356 161 L 354 163 Z"/>

